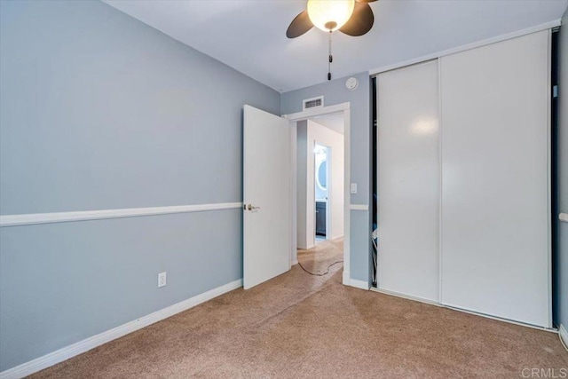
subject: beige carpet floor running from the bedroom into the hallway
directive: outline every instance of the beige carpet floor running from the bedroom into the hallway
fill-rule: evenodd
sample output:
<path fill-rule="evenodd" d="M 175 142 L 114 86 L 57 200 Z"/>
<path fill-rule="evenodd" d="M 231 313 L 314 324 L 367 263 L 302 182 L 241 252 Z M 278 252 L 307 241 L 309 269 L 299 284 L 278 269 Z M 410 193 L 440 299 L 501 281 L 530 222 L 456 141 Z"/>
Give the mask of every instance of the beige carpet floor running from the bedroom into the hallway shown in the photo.
<path fill-rule="evenodd" d="M 326 241 L 298 259 L 325 272 L 342 251 Z M 295 265 L 33 377 L 514 378 L 568 367 L 554 333 L 344 287 L 342 271 Z"/>

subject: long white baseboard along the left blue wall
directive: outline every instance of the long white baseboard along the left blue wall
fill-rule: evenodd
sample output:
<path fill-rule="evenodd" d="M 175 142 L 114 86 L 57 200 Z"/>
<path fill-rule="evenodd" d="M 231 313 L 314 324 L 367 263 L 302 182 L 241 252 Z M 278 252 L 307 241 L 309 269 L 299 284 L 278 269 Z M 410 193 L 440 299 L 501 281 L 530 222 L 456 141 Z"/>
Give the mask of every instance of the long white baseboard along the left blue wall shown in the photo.
<path fill-rule="evenodd" d="M 170 305 L 167 308 L 163 308 L 160 311 L 150 313 L 147 316 L 141 317 L 137 320 L 127 322 L 126 324 L 116 327 L 106 332 L 100 333 L 96 336 L 91 336 L 78 343 L 73 343 L 66 346 L 58 351 L 50 352 L 49 354 L 43 355 L 26 363 L 22 363 L 20 366 L 12 367 L 0 373 L 0 379 L 16 379 L 22 378 L 36 373 L 37 371 L 43 370 L 43 368 L 51 367 L 59 362 L 75 357 L 76 355 L 82 354 L 85 351 L 90 351 L 101 344 L 113 341 L 116 338 L 126 336 L 138 329 L 145 328 L 148 325 L 154 324 L 160 320 L 167 319 L 174 314 L 179 312 L 184 312 L 189 308 L 193 308 L 195 305 L 205 303 L 206 301 L 223 295 L 233 289 L 242 287 L 242 279 L 234 280 L 224 286 L 213 288 L 207 292 L 200 295 L 193 296 L 187 300 L 179 302 L 177 304 Z"/>

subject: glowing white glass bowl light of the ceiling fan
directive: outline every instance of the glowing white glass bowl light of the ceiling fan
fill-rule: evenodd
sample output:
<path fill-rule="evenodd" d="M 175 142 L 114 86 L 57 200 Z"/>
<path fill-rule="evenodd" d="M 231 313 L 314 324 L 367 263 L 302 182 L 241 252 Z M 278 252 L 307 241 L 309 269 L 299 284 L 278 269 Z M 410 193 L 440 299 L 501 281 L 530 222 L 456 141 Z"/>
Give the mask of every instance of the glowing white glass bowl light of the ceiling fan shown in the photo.
<path fill-rule="evenodd" d="M 308 0 L 307 11 L 316 28 L 333 32 L 351 18 L 354 7 L 355 0 Z"/>

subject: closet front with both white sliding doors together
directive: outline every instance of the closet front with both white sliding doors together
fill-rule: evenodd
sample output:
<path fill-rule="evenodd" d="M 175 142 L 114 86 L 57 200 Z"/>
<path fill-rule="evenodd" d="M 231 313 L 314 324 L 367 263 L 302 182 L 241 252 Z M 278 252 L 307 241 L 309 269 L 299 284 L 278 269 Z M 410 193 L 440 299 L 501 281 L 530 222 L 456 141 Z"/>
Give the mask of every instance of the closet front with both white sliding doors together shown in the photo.
<path fill-rule="evenodd" d="M 551 326 L 549 40 L 377 75 L 377 288 Z"/>

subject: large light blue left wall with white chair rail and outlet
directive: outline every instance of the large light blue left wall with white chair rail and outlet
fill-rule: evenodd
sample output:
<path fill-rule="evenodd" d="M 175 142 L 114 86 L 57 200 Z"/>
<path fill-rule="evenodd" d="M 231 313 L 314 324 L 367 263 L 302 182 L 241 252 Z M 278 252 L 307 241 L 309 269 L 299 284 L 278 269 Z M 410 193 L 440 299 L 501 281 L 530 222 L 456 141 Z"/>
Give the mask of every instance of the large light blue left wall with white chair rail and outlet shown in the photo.
<path fill-rule="evenodd" d="M 243 104 L 280 94 L 99 1 L 2 1 L 0 212 L 241 201 Z M 241 228 L 239 209 L 0 228 L 0 371 L 240 279 Z"/>

